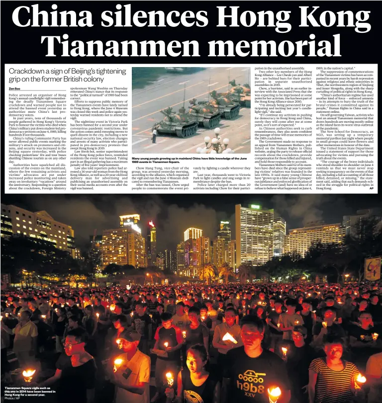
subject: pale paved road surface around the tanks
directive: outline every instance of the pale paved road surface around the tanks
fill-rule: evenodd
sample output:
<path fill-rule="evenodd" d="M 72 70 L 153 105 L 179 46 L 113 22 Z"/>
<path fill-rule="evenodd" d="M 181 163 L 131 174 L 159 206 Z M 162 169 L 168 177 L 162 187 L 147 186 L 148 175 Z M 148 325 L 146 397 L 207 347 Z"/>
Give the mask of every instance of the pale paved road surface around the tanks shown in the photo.
<path fill-rule="evenodd" d="M 204 146 L 205 136 L 213 137 L 214 129 L 199 128 L 194 136 L 180 139 L 177 136 L 159 135 L 155 144 L 151 142 L 151 128 L 164 117 L 161 109 L 168 106 L 178 110 L 183 105 L 186 83 L 186 103 L 189 99 L 207 100 L 208 92 L 224 92 L 229 80 L 237 83 L 248 81 L 248 67 L 212 67 L 193 74 L 164 73 L 157 81 L 149 82 L 145 88 L 133 90 L 132 99 L 132 144 L 133 153 L 150 154 L 195 154 L 196 148 Z M 250 108 L 242 107 L 233 120 L 220 121 L 220 135 L 229 138 L 229 147 L 235 153 L 251 151 Z"/>

